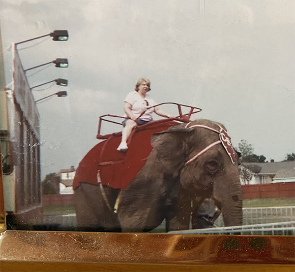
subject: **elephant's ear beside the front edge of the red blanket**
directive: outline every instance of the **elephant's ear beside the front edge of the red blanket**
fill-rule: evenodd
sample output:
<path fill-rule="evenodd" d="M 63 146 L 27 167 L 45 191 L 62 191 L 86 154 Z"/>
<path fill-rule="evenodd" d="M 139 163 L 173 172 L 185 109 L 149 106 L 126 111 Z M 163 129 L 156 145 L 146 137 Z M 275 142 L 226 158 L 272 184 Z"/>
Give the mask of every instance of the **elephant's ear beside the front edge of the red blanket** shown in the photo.
<path fill-rule="evenodd" d="M 194 129 L 172 127 L 151 137 L 151 145 L 156 151 L 156 157 L 167 171 L 175 172 L 183 166 L 188 153 L 186 139 L 193 133 Z"/>

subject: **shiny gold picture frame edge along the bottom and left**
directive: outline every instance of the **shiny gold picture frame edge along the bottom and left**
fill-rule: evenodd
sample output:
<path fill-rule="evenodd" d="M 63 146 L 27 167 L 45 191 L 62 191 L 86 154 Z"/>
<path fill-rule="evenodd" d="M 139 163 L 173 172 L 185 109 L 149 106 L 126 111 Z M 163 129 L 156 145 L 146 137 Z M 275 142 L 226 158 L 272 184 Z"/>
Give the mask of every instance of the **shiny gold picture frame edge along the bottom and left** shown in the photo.
<path fill-rule="evenodd" d="M 19 67 L 23 72 L 21 64 Z M 0 99 L 6 100 L 1 70 L 0 76 Z M 32 98 L 22 102 L 21 95 L 17 100 L 23 106 L 33 102 Z M 1 113 L 3 111 L 7 108 L 2 108 Z M 31 114 L 28 119 L 31 123 L 27 126 L 38 127 L 37 112 L 31 113 L 26 108 L 23 111 Z M 32 135 L 30 144 L 33 145 L 38 142 L 38 131 L 33 131 Z M 34 179 L 40 185 L 39 153 L 35 152 L 31 155 L 38 173 Z M 36 208 L 42 209 L 41 198 L 37 199 Z M 30 200 L 27 202 L 29 205 Z M 7 230 L 0 162 L 0 271 L 294 272 L 294 244 L 295 236 Z"/>

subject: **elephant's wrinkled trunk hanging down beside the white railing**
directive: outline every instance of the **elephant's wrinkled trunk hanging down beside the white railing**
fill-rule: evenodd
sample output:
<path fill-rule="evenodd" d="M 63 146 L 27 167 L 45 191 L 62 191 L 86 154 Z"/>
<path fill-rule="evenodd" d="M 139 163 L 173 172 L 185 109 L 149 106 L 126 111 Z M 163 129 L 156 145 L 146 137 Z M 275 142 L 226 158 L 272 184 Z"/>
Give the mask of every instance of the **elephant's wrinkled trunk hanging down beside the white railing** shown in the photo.
<path fill-rule="evenodd" d="M 227 182 L 226 182 L 227 183 Z M 220 187 L 220 186 L 217 186 Z M 243 224 L 243 201 L 242 201 L 242 190 L 239 179 L 231 185 L 221 184 L 222 188 L 215 190 L 213 189 L 214 199 L 218 206 L 221 208 L 223 221 L 225 226 L 238 226 Z M 225 190 L 225 187 L 228 187 Z M 226 195 L 220 192 L 227 191 Z"/>

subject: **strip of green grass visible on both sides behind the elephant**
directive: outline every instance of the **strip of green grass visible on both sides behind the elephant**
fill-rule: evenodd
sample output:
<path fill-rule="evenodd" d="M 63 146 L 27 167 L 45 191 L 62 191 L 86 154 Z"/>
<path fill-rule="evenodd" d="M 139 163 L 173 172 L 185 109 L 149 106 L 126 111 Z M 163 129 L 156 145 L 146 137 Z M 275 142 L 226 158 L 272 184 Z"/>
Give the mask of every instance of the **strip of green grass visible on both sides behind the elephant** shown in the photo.
<path fill-rule="evenodd" d="M 243 200 L 244 208 L 278 206 L 295 206 L 295 198 L 263 198 Z M 73 205 L 48 205 L 43 208 L 44 215 L 64 215 L 75 213 Z"/>

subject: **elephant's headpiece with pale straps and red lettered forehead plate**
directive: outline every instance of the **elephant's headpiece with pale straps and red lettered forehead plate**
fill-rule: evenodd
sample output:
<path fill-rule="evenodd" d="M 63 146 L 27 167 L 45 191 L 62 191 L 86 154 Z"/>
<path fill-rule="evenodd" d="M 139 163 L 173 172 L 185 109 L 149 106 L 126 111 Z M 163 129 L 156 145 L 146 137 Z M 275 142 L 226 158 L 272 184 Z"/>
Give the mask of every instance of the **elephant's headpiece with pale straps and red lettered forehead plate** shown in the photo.
<path fill-rule="evenodd" d="M 231 159 L 231 162 L 233 165 L 235 165 L 235 150 L 233 148 L 233 145 L 232 145 L 232 141 L 231 141 L 231 137 L 228 136 L 227 134 L 227 131 L 222 128 L 220 125 L 216 124 L 220 129 L 219 131 L 218 130 L 215 130 L 211 127 L 208 127 L 208 126 L 205 126 L 205 125 L 193 125 L 191 127 L 188 127 L 189 124 L 191 122 L 187 123 L 185 125 L 185 128 L 204 128 L 204 129 L 207 129 L 207 130 L 211 130 L 211 131 L 214 131 L 216 132 L 217 134 L 219 134 L 219 140 L 218 141 L 215 141 L 211 144 L 209 144 L 207 147 L 205 147 L 203 150 L 201 150 L 199 153 L 197 153 L 195 156 L 193 156 L 191 159 L 189 159 L 187 162 L 185 162 L 184 166 L 187 166 L 189 163 L 191 163 L 192 161 L 194 161 L 195 159 L 197 159 L 198 157 L 200 157 L 202 154 L 204 154 L 206 151 L 208 151 L 211 147 L 221 143 L 222 146 L 224 147 L 224 149 L 226 150 L 226 153 L 229 155 L 230 159 Z"/>

